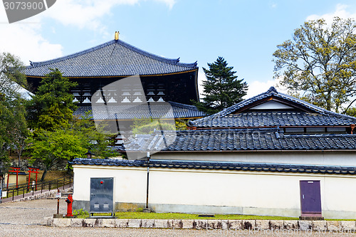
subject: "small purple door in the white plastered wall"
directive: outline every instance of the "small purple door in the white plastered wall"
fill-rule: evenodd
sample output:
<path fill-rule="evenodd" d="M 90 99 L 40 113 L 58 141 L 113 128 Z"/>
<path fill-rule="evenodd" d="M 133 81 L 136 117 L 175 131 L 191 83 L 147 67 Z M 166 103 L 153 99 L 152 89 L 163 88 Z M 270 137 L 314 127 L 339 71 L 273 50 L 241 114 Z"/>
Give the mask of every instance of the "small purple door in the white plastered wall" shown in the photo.
<path fill-rule="evenodd" d="M 320 181 L 300 180 L 302 214 L 321 214 Z"/>

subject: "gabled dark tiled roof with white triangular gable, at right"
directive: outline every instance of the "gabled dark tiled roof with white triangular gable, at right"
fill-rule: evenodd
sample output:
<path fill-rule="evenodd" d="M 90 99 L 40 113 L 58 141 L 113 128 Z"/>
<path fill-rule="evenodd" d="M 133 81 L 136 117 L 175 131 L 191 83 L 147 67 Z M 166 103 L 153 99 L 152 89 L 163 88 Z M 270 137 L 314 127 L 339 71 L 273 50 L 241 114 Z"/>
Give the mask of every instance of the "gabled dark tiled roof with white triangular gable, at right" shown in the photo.
<path fill-rule="evenodd" d="M 248 111 L 268 101 L 276 101 L 295 110 Z M 241 101 L 214 115 L 189 122 L 190 127 L 263 127 L 263 126 L 348 126 L 356 117 L 341 115 L 269 88 L 266 93 Z"/>

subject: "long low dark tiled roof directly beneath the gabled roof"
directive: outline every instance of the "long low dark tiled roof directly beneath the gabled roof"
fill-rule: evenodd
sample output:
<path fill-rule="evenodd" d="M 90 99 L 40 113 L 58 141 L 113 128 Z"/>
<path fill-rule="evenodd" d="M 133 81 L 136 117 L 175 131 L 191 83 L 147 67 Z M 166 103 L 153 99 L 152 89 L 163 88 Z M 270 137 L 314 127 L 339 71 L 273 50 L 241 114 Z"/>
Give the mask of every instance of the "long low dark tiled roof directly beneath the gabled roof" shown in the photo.
<path fill-rule="evenodd" d="M 159 131 L 150 136 L 137 135 L 125 144 L 125 149 L 140 152 L 356 149 L 356 135 L 284 135 L 278 128 L 165 131 L 163 136 Z M 174 142 L 165 142 L 174 136 Z"/>

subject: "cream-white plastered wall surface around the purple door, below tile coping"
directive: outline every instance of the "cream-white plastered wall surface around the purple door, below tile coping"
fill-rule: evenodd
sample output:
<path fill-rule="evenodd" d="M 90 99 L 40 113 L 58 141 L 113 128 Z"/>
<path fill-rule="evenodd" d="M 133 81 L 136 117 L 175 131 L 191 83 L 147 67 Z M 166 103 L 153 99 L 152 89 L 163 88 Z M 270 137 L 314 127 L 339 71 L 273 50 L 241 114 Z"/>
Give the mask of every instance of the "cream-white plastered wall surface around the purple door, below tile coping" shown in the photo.
<path fill-rule="evenodd" d="M 115 178 L 115 202 L 145 204 L 147 168 L 73 165 L 73 198 L 90 199 L 90 177 Z M 356 177 L 285 172 L 150 169 L 157 212 L 300 216 L 300 180 L 320 180 L 325 218 L 356 218 Z"/>

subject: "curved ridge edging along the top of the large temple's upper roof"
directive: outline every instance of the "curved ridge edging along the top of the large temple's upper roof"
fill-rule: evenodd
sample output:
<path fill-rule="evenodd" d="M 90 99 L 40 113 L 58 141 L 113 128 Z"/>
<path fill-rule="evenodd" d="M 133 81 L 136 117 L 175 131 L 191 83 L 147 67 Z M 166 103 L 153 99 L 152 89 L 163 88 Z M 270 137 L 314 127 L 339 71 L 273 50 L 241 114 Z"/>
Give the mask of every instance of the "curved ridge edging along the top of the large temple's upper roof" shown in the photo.
<path fill-rule="evenodd" d="M 51 59 L 51 60 L 45 60 L 45 61 L 41 61 L 41 62 L 32 62 L 30 60 L 30 66 L 27 66 L 27 68 L 35 68 L 35 67 L 38 67 L 38 66 L 42 66 L 42 65 L 48 65 L 48 64 L 51 64 L 51 63 L 58 63 L 62 60 L 66 60 L 66 59 L 69 59 L 69 58 L 75 58 L 77 56 L 81 56 L 85 53 L 90 53 L 90 52 L 93 52 L 99 48 L 104 48 L 105 46 L 109 46 L 111 44 L 114 44 L 114 43 L 120 43 L 120 45 L 126 47 L 126 48 L 129 48 L 130 50 L 132 51 L 135 51 L 136 53 L 140 53 L 142 54 L 143 56 L 147 56 L 149 58 L 153 58 L 155 60 L 159 60 L 159 61 L 162 61 L 164 63 L 169 63 L 169 64 L 172 64 L 172 65 L 180 65 L 180 66 L 183 66 L 183 67 L 187 67 L 187 68 L 195 68 L 197 67 L 197 62 L 195 63 L 179 63 L 179 58 L 175 59 L 175 58 L 164 58 L 162 56 L 157 56 L 153 53 L 149 53 L 147 51 L 144 51 L 140 48 L 137 48 L 135 46 L 132 46 L 130 45 L 129 43 L 126 43 L 124 41 L 121 41 L 121 40 L 112 40 L 112 41 L 108 41 L 106 43 L 102 43 L 98 46 L 95 46 L 95 47 L 92 47 L 92 48 L 88 48 L 88 49 L 85 49 L 84 51 L 80 51 L 78 53 L 73 53 L 73 54 L 69 54 L 67 56 L 63 56 L 63 57 L 60 57 L 60 58 L 54 58 L 54 59 Z"/>

